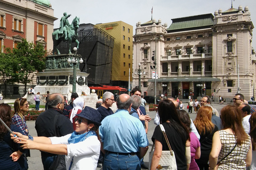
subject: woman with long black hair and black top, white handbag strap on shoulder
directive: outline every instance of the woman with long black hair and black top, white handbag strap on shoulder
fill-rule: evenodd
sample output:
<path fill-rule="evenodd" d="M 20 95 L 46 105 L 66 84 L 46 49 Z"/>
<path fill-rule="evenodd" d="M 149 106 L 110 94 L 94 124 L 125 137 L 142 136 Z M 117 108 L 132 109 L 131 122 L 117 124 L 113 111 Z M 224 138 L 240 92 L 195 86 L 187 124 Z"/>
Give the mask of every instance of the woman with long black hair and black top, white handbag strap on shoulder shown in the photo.
<path fill-rule="evenodd" d="M 160 123 L 164 126 L 167 139 L 175 153 L 178 169 L 189 169 L 190 164 L 190 138 L 188 128 L 181 122 L 177 109 L 169 99 L 163 99 L 158 104 Z M 156 169 L 162 156 L 162 150 L 169 150 L 159 125 L 156 126 L 152 136 L 155 151 L 151 162 L 151 170 Z"/>

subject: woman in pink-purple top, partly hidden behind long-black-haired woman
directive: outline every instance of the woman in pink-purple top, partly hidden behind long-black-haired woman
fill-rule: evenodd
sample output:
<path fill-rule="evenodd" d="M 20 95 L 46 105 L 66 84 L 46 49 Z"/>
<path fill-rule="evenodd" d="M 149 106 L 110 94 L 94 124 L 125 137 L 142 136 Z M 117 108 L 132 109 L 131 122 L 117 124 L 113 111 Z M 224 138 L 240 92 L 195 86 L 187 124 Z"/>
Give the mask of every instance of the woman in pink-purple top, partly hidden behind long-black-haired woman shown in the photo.
<path fill-rule="evenodd" d="M 190 128 L 190 117 L 185 110 L 178 111 L 181 122 L 185 123 L 188 128 L 189 136 L 190 136 L 190 155 L 191 155 L 191 162 L 189 166 L 189 170 L 199 170 L 198 165 L 195 162 L 195 159 L 199 159 L 201 156 L 201 149 L 200 149 L 200 142 L 196 137 L 194 132 L 191 132 Z"/>

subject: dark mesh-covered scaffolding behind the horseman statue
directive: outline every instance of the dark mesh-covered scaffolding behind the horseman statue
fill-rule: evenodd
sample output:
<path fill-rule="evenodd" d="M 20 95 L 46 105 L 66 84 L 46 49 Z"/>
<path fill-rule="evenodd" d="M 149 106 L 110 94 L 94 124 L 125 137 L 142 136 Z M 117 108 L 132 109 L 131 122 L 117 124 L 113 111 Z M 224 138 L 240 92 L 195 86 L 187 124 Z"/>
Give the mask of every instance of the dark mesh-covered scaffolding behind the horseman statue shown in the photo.
<path fill-rule="evenodd" d="M 81 54 L 84 63 L 80 65 L 82 72 L 87 72 L 88 86 L 95 84 L 111 83 L 111 68 L 114 48 L 114 37 L 107 32 L 98 29 L 83 29 L 79 27 L 77 40 L 79 41 L 79 49 L 77 54 Z M 72 43 L 71 47 L 76 47 L 76 43 Z M 61 54 L 68 52 L 68 43 L 61 42 L 58 49 Z"/>

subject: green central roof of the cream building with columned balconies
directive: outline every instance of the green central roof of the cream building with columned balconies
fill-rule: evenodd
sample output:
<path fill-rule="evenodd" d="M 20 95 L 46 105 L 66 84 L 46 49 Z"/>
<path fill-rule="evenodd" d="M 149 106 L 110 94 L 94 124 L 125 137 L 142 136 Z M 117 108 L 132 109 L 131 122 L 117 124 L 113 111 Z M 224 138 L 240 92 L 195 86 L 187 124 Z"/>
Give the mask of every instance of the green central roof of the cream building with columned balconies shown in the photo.
<path fill-rule="evenodd" d="M 174 30 L 189 30 L 193 28 L 207 28 L 213 25 L 213 15 L 212 14 L 203 14 L 203 15 L 195 15 L 188 16 L 184 18 L 172 19 L 172 24 L 167 29 L 169 32 L 173 32 Z"/>

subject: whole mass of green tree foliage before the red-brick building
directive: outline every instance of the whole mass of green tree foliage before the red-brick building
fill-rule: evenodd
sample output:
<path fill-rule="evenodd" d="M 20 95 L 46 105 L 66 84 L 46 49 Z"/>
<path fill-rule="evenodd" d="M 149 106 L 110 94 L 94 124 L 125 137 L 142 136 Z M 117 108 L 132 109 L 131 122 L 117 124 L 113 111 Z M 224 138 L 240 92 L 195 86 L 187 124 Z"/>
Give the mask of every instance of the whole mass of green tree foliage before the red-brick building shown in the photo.
<path fill-rule="evenodd" d="M 31 82 L 29 76 L 33 72 L 41 72 L 45 69 L 46 50 L 42 44 L 28 43 L 22 39 L 17 48 L 6 48 L 5 53 L 0 53 L 0 75 L 6 85 L 11 83 L 23 83 L 27 89 L 27 83 Z"/>

